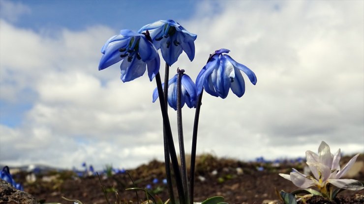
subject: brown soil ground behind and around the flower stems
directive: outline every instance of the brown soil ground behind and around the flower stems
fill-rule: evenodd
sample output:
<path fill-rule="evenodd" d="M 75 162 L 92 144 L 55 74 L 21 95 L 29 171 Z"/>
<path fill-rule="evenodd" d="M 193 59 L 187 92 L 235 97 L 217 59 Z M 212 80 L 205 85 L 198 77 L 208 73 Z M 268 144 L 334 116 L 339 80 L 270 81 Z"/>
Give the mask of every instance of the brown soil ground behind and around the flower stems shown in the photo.
<path fill-rule="evenodd" d="M 345 164 L 350 157 L 343 158 Z M 361 154 L 357 161 L 364 161 Z M 195 181 L 195 201 L 204 201 L 212 196 L 223 196 L 225 202 L 229 204 L 261 204 L 265 200 L 279 200 L 276 190 L 291 192 L 297 189 L 289 180 L 278 175 L 278 173 L 289 173 L 294 167 L 303 172 L 304 162 L 283 162 L 279 167 L 271 163 L 242 162 L 233 159 L 216 158 L 212 155 L 202 155 L 197 159 L 196 181 Z M 257 167 L 263 166 L 263 171 L 258 171 Z M 243 173 L 238 174 L 237 168 L 241 168 Z M 153 160 L 146 165 L 132 170 L 128 173 L 140 188 L 152 185 L 150 192 L 157 194 L 163 201 L 168 198 L 166 185 L 162 183 L 165 178 L 164 163 Z M 216 173 L 216 174 L 215 174 Z M 48 176 L 54 176 L 52 181 L 41 181 L 44 175 L 37 175 L 34 183 L 25 183 L 25 173 L 17 175 L 15 178 L 23 178 L 25 191 L 32 194 L 39 200 L 46 203 L 59 202 L 67 203 L 61 196 L 69 199 L 80 200 L 83 204 L 107 204 L 102 192 L 99 178 L 89 176 L 79 178 L 72 172 L 50 172 Z M 199 179 L 203 177 L 205 180 Z M 154 178 L 159 182 L 152 183 Z M 364 170 L 362 169 L 354 179 L 364 180 Z M 102 184 L 109 192 L 110 203 L 114 204 L 116 196 L 115 188 L 121 201 L 133 201 L 137 203 L 135 191 L 124 190 L 133 187 L 133 183 L 127 174 L 117 174 L 109 178 L 102 178 Z M 145 193 L 138 192 L 139 200 L 146 200 Z M 177 195 L 177 194 L 176 194 Z M 321 197 L 312 197 L 306 203 L 311 204 L 364 204 L 364 190 L 343 191 L 335 201 L 322 200 Z M 331 202 L 331 203 L 330 203 Z"/>

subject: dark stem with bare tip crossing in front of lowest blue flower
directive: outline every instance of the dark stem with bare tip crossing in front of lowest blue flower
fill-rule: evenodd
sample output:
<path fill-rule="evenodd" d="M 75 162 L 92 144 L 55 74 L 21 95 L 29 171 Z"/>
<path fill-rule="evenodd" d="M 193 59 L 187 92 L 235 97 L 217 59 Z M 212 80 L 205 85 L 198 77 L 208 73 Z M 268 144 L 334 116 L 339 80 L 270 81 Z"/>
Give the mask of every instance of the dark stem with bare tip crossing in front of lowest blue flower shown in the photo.
<path fill-rule="evenodd" d="M 177 69 L 178 77 L 177 77 L 177 127 L 178 127 L 178 141 L 180 144 L 180 158 L 181 158 L 181 175 L 182 175 L 182 183 L 184 196 L 187 198 L 187 203 L 189 204 L 189 196 L 188 196 L 188 183 L 187 183 L 187 168 L 186 168 L 186 157 L 184 153 L 184 142 L 183 142 L 183 128 L 182 128 L 182 107 L 181 107 L 181 92 L 182 85 L 181 79 L 184 70 Z"/>

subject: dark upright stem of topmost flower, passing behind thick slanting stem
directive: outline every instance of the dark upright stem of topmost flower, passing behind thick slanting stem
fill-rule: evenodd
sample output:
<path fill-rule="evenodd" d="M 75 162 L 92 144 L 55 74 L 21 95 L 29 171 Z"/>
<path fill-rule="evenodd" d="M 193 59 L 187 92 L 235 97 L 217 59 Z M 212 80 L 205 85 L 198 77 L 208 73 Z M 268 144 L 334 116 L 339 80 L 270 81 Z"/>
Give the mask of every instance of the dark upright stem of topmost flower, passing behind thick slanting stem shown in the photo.
<path fill-rule="evenodd" d="M 169 65 L 166 63 L 165 66 L 165 74 L 164 74 L 164 87 L 163 87 L 163 94 L 164 94 L 164 103 L 166 111 L 167 109 L 167 97 L 168 97 L 168 80 L 169 80 Z M 168 186 L 168 193 L 170 197 L 171 204 L 175 204 L 175 195 L 173 193 L 173 185 L 172 185 L 172 176 L 171 176 L 171 162 L 169 156 L 169 149 L 168 149 L 168 142 L 166 137 L 166 130 L 163 124 L 163 144 L 164 144 L 164 164 L 166 169 L 166 179 L 167 179 L 167 186 Z"/>

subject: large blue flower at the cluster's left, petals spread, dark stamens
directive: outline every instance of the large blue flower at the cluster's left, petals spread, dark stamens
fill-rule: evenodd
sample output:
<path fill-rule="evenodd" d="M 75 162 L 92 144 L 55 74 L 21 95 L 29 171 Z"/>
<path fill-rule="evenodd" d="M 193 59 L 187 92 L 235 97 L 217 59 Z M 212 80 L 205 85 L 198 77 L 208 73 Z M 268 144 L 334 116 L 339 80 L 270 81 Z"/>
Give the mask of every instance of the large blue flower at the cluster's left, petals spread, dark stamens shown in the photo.
<path fill-rule="evenodd" d="M 103 70 L 122 60 L 121 80 L 123 82 L 141 77 L 148 67 L 152 81 L 159 72 L 159 55 L 151 43 L 148 30 L 145 34 L 131 30 L 121 30 L 120 35 L 111 37 L 101 49 L 102 55 L 98 70 Z"/>

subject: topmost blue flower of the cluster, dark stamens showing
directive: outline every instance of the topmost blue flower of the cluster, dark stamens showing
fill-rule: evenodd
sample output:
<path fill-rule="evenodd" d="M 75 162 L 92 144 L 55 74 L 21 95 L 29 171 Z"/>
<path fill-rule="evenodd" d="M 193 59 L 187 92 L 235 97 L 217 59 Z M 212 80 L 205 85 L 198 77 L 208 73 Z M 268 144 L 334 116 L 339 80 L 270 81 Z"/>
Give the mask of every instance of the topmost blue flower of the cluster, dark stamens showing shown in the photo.
<path fill-rule="evenodd" d="M 139 33 L 149 30 L 156 49 L 161 50 L 164 61 L 168 65 L 175 63 L 182 53 L 187 54 L 189 60 L 195 57 L 194 41 L 197 35 L 188 32 L 173 20 L 160 20 L 139 29 Z"/>

